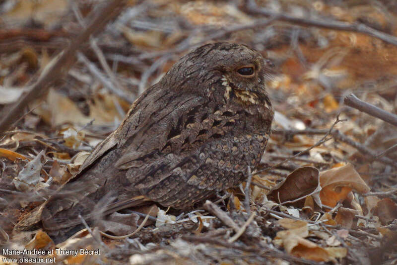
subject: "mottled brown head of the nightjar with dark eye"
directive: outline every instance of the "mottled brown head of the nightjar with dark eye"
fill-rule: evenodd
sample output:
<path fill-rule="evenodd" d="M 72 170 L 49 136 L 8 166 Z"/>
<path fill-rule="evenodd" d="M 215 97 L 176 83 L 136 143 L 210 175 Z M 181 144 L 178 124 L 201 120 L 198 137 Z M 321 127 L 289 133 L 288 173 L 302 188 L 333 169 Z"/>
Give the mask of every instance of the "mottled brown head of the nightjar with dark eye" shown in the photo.
<path fill-rule="evenodd" d="M 164 76 L 167 87 L 241 105 L 248 112 L 272 112 L 266 93 L 272 63 L 241 44 L 206 44 L 183 56 Z M 268 109 L 266 111 L 266 109 Z"/>

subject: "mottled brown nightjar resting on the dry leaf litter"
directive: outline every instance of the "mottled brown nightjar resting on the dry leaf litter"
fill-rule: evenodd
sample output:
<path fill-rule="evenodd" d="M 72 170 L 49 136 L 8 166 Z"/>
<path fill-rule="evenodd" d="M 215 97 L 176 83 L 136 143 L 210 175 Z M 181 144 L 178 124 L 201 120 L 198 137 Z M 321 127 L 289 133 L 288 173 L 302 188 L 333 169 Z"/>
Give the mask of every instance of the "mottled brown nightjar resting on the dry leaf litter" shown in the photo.
<path fill-rule="evenodd" d="M 214 43 L 182 57 L 132 104 L 120 127 L 44 205 L 46 230 L 144 198 L 186 209 L 247 177 L 265 151 L 273 110 L 265 90 L 272 64 L 246 46 Z M 136 197 L 138 196 L 138 197 Z"/>

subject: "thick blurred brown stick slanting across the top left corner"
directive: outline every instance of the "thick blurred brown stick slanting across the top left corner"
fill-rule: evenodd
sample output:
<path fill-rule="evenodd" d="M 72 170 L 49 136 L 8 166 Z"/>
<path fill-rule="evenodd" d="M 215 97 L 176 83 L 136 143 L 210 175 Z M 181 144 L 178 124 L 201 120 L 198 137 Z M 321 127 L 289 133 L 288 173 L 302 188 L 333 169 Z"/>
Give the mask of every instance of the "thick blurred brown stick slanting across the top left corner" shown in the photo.
<path fill-rule="evenodd" d="M 115 18 L 127 4 L 127 0 L 113 0 L 107 3 L 101 10 L 96 8 L 92 10 L 90 16 L 95 17 L 91 20 L 88 27 L 85 28 L 67 47 L 56 61 L 49 66 L 49 69 L 41 75 L 39 80 L 30 88 L 30 90 L 24 94 L 15 104 L 9 108 L 4 108 L 4 111 L 0 113 L 0 135 L 7 131 L 12 126 L 20 115 L 21 111 L 29 102 L 42 96 L 50 86 L 57 80 L 60 80 L 70 68 L 74 62 L 74 56 L 78 49 L 81 48 L 82 44 L 88 40 L 88 38 L 102 30 L 103 27 L 113 18 Z"/>

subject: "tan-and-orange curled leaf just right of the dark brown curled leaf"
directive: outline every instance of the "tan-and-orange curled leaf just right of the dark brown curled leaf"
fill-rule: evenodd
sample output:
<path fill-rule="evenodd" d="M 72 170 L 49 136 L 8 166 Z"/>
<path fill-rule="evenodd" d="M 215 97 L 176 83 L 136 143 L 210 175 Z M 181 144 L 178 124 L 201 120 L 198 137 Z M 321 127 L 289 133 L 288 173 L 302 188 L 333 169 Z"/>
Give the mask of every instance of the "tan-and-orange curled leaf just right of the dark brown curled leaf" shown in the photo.
<path fill-rule="evenodd" d="M 320 183 L 322 186 L 321 201 L 330 207 L 334 207 L 338 201 L 343 201 L 352 189 L 359 193 L 370 191 L 368 185 L 351 164 L 321 172 Z"/>

